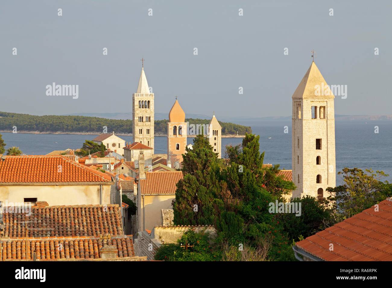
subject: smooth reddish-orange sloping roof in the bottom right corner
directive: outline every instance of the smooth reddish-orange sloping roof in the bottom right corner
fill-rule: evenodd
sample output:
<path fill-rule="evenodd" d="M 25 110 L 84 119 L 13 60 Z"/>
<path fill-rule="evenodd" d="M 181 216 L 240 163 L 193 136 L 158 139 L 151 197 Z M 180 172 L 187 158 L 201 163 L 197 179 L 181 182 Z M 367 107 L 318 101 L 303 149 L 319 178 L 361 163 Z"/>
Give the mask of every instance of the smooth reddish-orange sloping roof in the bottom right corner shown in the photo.
<path fill-rule="evenodd" d="M 296 246 L 325 261 L 392 261 L 392 198 L 378 205 L 378 212 L 372 206 Z"/>

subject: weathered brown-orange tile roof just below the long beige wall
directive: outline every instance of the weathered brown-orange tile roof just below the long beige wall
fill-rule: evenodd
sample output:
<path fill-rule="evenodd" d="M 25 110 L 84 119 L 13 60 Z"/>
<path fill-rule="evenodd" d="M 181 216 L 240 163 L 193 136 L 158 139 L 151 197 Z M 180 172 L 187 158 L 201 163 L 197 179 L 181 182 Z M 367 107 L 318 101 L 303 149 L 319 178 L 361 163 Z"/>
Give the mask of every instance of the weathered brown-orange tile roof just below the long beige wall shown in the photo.
<path fill-rule="evenodd" d="M 4 237 L 25 237 L 25 219 L 30 221 L 27 237 L 124 234 L 118 205 L 32 206 L 28 212 L 30 216 L 20 209 L 3 213 Z"/>

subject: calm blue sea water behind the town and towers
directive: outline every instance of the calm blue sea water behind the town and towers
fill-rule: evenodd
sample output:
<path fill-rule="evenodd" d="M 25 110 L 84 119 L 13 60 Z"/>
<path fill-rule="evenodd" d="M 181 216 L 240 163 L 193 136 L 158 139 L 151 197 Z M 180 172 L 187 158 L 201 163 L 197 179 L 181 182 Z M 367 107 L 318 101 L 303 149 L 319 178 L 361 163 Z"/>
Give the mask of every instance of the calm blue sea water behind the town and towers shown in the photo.
<path fill-rule="evenodd" d="M 280 164 L 282 169 L 291 169 L 291 123 L 281 121 L 241 123 L 252 127 L 255 134 L 260 135 L 260 152 L 265 151 L 264 163 Z M 374 126 L 379 127 L 379 133 L 374 133 Z M 289 127 L 289 133 L 283 133 L 284 126 Z M 53 150 L 67 148 L 78 149 L 86 139 L 96 135 L 72 134 L 22 134 L 1 133 L 6 149 L 11 146 L 19 147 L 25 154 L 45 155 Z M 131 142 L 131 136 L 122 136 Z M 372 168 L 383 170 L 390 174 L 386 179 L 392 180 L 392 122 L 360 122 L 336 121 L 336 171 L 343 167 Z M 194 138 L 188 138 L 192 143 Z M 242 138 L 222 138 L 222 147 L 236 145 Z M 155 137 L 155 153 L 167 153 L 167 138 Z M 224 154 L 224 149 L 222 148 Z M 341 176 L 337 184 L 341 183 Z"/>

